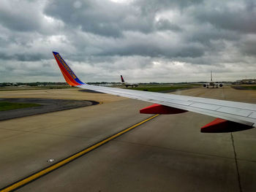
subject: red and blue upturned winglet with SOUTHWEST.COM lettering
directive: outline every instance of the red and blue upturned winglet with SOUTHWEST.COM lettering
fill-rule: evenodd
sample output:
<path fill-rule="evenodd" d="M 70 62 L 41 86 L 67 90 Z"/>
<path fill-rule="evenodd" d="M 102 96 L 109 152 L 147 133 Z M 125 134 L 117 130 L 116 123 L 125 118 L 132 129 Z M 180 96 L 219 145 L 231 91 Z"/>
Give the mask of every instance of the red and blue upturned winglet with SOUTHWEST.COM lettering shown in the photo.
<path fill-rule="evenodd" d="M 53 52 L 53 56 L 59 65 L 59 69 L 61 69 L 61 73 L 63 74 L 66 82 L 71 86 L 84 85 L 85 83 L 80 81 L 72 69 L 67 65 L 61 55 L 57 52 Z"/>

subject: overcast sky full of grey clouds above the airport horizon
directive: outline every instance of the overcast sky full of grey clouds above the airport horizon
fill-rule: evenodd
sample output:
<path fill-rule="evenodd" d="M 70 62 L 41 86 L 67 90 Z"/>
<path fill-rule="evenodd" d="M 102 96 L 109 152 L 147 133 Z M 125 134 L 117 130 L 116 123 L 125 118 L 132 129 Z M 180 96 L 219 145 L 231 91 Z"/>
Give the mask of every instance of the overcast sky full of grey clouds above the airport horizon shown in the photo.
<path fill-rule="evenodd" d="M 1 0 L 0 82 L 256 77 L 256 1 Z"/>

